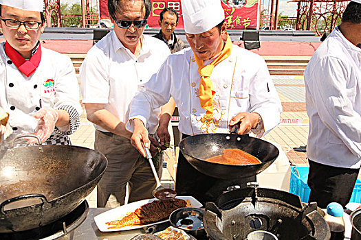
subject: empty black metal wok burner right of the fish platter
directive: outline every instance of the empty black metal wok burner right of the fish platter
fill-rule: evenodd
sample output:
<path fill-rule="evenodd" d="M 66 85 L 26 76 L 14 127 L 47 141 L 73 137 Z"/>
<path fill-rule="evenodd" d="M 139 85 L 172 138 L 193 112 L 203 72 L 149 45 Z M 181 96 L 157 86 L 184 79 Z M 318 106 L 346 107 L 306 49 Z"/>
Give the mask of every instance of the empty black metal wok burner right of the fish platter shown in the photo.
<path fill-rule="evenodd" d="M 206 204 L 203 221 L 212 240 L 251 239 L 252 232 L 253 239 L 329 239 L 329 228 L 315 203 L 303 205 L 298 196 L 274 189 L 223 193 L 217 202 Z"/>

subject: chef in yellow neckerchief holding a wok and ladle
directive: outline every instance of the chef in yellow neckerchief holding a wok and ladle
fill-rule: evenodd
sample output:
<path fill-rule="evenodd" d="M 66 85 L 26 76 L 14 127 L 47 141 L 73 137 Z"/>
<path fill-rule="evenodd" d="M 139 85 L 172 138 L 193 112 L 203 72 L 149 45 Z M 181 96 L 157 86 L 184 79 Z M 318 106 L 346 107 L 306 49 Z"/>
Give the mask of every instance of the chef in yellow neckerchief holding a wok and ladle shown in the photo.
<path fill-rule="evenodd" d="M 149 146 L 146 132 L 150 109 L 175 99 L 179 131 L 183 137 L 228 132 L 241 122 L 239 134 L 269 132 L 280 118 L 281 101 L 265 61 L 251 51 L 232 45 L 226 32 L 219 0 L 182 0 L 184 29 L 190 48 L 168 57 L 156 75 L 135 95 L 127 123 L 131 141 L 145 156 L 141 141 Z M 132 129 L 133 128 L 133 129 Z M 212 201 L 228 186 L 242 182 L 210 178 L 179 156 L 178 195 Z M 247 181 L 247 180 L 246 180 Z M 244 183 L 244 182 L 243 182 Z"/>

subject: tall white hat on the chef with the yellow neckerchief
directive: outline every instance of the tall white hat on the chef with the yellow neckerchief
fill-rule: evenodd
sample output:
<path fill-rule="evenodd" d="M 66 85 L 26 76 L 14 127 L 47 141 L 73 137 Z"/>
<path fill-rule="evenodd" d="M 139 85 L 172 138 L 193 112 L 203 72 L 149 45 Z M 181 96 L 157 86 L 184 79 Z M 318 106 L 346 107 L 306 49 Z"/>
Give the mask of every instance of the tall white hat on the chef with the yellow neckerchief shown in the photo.
<path fill-rule="evenodd" d="M 181 0 L 184 30 L 201 34 L 224 20 L 221 0 Z"/>

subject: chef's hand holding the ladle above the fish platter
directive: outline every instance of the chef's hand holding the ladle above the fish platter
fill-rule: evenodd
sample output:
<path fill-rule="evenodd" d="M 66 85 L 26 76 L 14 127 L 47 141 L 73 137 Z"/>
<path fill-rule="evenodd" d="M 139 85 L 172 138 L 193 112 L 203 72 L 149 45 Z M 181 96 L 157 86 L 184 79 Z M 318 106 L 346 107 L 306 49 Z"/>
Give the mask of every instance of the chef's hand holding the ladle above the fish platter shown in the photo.
<path fill-rule="evenodd" d="M 150 147 L 151 141 L 149 140 L 148 130 L 144 127 L 143 122 L 140 119 L 133 119 L 134 131 L 133 135 L 131 135 L 131 144 L 138 149 L 140 154 L 146 157 L 142 142 L 144 143 L 144 147 Z"/>

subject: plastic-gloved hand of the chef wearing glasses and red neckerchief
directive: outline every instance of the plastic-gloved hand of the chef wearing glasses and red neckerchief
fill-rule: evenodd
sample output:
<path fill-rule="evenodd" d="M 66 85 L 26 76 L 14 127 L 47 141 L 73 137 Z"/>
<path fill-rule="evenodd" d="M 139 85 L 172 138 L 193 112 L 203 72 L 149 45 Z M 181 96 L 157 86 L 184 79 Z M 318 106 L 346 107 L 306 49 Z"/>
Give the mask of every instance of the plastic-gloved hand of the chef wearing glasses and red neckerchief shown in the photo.
<path fill-rule="evenodd" d="M 58 121 L 58 116 L 58 112 L 52 108 L 41 108 L 39 112 L 35 113 L 34 117 L 38 119 L 38 125 L 32 134 L 39 136 L 41 143 L 45 142 L 52 135 L 55 123 Z M 29 139 L 28 143 L 37 143 L 37 141 L 36 139 Z"/>

